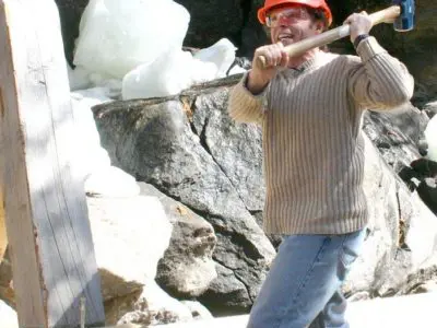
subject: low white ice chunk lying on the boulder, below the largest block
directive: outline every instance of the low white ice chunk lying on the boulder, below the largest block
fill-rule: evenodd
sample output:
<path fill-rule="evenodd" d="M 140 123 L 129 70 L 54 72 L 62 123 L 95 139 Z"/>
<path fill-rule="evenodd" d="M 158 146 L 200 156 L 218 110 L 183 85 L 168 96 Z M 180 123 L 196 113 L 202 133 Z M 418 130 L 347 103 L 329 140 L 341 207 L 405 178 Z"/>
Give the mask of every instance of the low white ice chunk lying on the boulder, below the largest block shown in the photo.
<path fill-rule="evenodd" d="M 190 52 L 175 49 L 126 74 L 122 80 L 122 98 L 175 95 L 193 83 L 213 80 L 216 74 L 217 68 L 214 63 L 194 60 Z"/>

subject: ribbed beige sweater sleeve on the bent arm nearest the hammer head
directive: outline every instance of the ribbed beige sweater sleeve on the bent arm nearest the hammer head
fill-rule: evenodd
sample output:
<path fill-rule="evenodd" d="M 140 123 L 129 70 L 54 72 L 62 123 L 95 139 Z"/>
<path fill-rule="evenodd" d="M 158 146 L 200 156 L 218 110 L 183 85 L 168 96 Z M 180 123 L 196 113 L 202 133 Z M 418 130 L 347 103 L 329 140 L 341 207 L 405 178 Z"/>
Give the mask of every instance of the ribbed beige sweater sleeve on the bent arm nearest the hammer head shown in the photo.
<path fill-rule="evenodd" d="M 349 91 L 359 107 L 389 109 L 411 99 L 413 77 L 375 37 L 362 40 L 356 51 L 359 58 L 355 57 L 357 60 L 350 71 Z"/>

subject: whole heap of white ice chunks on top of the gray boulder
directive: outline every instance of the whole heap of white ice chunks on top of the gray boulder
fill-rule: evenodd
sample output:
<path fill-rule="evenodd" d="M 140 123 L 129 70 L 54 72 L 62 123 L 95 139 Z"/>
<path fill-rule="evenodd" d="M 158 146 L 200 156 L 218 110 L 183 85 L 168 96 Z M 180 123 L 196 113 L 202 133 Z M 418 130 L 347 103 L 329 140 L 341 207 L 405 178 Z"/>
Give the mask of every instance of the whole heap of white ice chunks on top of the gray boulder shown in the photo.
<path fill-rule="evenodd" d="M 189 12 L 173 0 L 91 0 L 79 27 L 76 67 L 69 69 L 71 90 L 117 81 L 117 98 L 147 98 L 228 75 L 236 50 L 228 39 L 194 55 L 182 51 L 189 21 Z"/>

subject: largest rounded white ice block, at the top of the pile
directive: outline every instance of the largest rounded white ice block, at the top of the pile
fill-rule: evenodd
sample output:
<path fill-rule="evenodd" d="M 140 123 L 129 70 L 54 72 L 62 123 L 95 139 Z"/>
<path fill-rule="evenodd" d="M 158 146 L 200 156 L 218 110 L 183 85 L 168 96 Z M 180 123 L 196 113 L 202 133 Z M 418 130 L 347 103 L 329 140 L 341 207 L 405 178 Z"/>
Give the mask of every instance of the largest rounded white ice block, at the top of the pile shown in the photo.
<path fill-rule="evenodd" d="M 91 0 L 80 22 L 74 65 L 121 80 L 180 49 L 189 20 L 173 0 Z"/>

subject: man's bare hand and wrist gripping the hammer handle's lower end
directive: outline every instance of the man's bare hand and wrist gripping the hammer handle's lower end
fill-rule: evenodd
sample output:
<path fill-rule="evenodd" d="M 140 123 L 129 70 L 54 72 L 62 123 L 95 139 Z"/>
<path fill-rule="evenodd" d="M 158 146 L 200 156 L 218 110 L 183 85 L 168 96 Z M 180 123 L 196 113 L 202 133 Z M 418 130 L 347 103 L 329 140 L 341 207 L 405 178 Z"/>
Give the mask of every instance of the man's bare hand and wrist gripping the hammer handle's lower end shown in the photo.
<path fill-rule="evenodd" d="M 265 67 L 259 62 L 259 57 L 265 58 Z M 252 69 L 249 72 L 247 87 L 253 94 L 260 93 L 273 79 L 277 69 L 288 65 L 288 55 L 282 43 L 262 46 L 255 50 Z"/>

